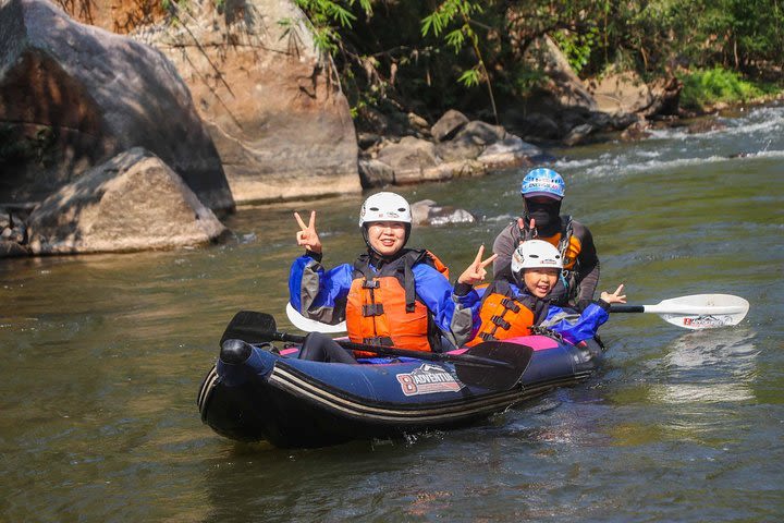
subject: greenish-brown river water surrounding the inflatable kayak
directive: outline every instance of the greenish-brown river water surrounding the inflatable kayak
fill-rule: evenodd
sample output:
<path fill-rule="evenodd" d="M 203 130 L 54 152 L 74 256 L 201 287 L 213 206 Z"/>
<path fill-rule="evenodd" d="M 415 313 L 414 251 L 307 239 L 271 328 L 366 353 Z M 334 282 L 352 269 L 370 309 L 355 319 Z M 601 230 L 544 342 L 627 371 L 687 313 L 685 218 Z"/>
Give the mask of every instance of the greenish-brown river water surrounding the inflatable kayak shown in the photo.
<path fill-rule="evenodd" d="M 0 520 L 781 521 L 784 108 L 722 121 L 554 153 L 600 288 L 624 282 L 636 304 L 736 294 L 747 318 L 688 331 L 613 315 L 591 380 L 462 430 L 279 450 L 200 423 L 232 315 L 290 327 L 292 210 L 318 210 L 333 265 L 362 250 L 359 195 L 241 207 L 226 245 L 0 262 Z M 520 210 L 523 174 L 402 190 L 479 218 L 412 245 L 456 276 Z"/>

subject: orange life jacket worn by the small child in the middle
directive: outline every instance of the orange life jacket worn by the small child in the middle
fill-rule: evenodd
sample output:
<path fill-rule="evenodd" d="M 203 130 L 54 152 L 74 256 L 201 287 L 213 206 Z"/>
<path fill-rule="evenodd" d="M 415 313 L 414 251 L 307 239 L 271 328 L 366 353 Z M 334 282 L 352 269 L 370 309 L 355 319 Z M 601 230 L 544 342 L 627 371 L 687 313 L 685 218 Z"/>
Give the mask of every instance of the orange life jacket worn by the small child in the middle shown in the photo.
<path fill-rule="evenodd" d="M 543 302 L 542 302 L 542 305 Z M 516 296 L 506 281 L 498 280 L 487 289 L 479 307 L 479 330 L 466 345 L 474 346 L 482 341 L 505 340 L 530 335 L 536 323 L 536 299 L 530 295 Z"/>

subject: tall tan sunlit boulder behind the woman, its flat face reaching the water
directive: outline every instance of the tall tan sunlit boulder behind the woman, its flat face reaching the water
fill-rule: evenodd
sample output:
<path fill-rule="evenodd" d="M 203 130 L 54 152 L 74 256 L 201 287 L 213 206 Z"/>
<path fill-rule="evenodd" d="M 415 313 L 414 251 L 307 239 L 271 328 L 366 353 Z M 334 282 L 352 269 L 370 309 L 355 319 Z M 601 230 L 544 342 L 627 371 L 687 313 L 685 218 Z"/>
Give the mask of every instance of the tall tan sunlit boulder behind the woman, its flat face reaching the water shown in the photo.
<path fill-rule="evenodd" d="M 101 0 L 108 1 L 108 0 Z M 191 87 L 238 202 L 359 192 L 348 102 L 287 0 L 193 0 L 135 36 Z"/>

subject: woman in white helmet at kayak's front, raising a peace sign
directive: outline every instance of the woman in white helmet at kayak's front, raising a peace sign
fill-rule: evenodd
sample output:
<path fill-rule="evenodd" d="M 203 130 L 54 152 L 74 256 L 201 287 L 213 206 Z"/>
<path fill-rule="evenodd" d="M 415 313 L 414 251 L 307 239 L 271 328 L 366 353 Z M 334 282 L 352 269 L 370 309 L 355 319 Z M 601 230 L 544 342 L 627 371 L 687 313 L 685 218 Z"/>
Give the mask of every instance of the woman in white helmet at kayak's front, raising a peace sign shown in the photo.
<path fill-rule="evenodd" d="M 453 335 L 460 329 L 451 325 L 455 302 L 446 267 L 428 251 L 405 248 L 412 214 L 401 195 L 382 192 L 365 200 L 359 228 L 367 252 L 330 270 L 321 265 L 316 211 L 308 223 L 297 212 L 294 217 L 301 229 L 297 245 L 305 254 L 292 265 L 289 290 L 299 314 L 331 325 L 345 319 L 348 338 L 356 343 L 441 352 L 467 341 L 466 329 L 462 337 Z M 308 338 L 304 352 L 317 346 L 318 354 L 301 357 L 353 361 L 343 357 L 344 351 L 332 350 L 326 337 Z"/>

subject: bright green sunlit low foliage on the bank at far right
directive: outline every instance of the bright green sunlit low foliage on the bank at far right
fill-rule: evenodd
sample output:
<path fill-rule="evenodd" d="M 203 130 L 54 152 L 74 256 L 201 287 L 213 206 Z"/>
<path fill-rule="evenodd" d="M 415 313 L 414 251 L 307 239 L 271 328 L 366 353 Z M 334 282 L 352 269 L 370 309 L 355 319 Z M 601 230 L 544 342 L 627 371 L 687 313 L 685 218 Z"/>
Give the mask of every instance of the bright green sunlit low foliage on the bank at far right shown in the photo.
<path fill-rule="evenodd" d="M 749 101 L 774 89 L 770 85 L 745 81 L 736 72 L 722 68 L 682 73 L 678 77 L 684 84 L 681 105 L 694 110 L 719 101 Z"/>

